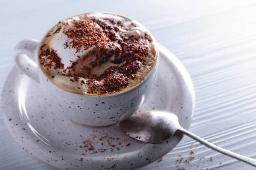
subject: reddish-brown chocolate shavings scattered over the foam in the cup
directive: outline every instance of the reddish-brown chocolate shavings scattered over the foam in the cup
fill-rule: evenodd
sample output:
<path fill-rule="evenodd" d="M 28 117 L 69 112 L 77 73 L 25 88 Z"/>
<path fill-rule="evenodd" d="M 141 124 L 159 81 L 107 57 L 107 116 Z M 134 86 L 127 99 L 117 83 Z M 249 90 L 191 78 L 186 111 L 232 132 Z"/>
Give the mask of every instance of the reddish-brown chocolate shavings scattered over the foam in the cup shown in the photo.
<path fill-rule="evenodd" d="M 120 88 L 126 88 L 129 79 L 135 79 L 140 68 L 146 65 L 145 58 L 151 52 L 152 38 L 147 33 L 144 39 L 136 39 L 134 36 L 120 37 L 116 34 L 119 31 L 117 27 L 122 26 L 123 23 L 114 18 L 103 19 L 104 22 L 101 18 L 84 15 L 84 20 L 74 20 L 72 25 L 58 25 L 51 35 L 63 31 L 63 34 L 69 38 L 63 44 L 64 48 L 74 48 L 76 53 L 91 49 L 85 56 L 74 54 L 78 59 L 76 62 L 70 61 L 72 65 L 64 70 L 64 64 L 61 63 L 56 51 L 46 48 L 44 44 L 40 48 L 41 65 L 47 69 L 62 69 L 60 74 L 73 77 L 70 79 L 71 82 L 79 82 L 81 78 L 89 79 L 87 82 L 81 80 L 81 85 L 88 85 L 90 87 L 88 93 L 91 94 L 111 94 Z M 90 66 L 83 65 L 87 60 L 90 61 Z M 107 68 L 100 75 L 91 74 L 92 68 L 100 67 L 105 62 L 115 65 Z M 103 83 L 99 85 L 94 83 L 95 81 L 103 81 Z"/>

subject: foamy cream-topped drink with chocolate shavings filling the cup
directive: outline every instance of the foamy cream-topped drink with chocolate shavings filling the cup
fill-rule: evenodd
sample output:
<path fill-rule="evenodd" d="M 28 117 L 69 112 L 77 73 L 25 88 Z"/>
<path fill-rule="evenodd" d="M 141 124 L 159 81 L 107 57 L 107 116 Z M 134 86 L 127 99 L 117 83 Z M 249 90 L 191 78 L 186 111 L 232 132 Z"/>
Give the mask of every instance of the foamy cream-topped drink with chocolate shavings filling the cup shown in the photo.
<path fill-rule="evenodd" d="M 105 13 L 59 22 L 38 51 L 41 69 L 55 85 L 84 95 L 114 94 L 137 85 L 156 55 L 155 40 L 144 26 Z"/>

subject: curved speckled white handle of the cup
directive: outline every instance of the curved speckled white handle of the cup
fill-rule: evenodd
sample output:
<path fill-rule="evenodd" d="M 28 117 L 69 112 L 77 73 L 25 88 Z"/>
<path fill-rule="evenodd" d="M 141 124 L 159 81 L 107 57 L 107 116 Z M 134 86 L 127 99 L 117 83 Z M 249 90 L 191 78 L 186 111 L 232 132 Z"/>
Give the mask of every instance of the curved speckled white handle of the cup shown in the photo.
<path fill-rule="evenodd" d="M 38 45 L 38 40 L 21 40 L 15 46 L 14 58 L 17 67 L 20 68 L 24 74 L 40 83 L 36 59 Z"/>

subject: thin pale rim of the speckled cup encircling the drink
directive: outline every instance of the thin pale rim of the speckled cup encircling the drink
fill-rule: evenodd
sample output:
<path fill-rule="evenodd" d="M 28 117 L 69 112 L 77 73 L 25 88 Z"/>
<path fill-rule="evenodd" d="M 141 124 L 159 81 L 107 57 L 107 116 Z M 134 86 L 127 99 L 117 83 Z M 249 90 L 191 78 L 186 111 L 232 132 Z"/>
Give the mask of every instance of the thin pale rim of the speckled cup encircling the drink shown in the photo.
<path fill-rule="evenodd" d="M 101 12 L 101 11 L 96 11 L 96 12 L 103 13 L 103 14 L 114 14 L 114 13 Z M 84 13 L 84 14 L 90 14 L 90 13 L 95 13 L 95 12 L 87 12 L 87 13 Z M 81 15 L 81 14 L 77 14 L 77 15 Z M 72 17 L 76 17 L 77 15 L 74 15 L 74 16 L 72 16 Z M 122 15 L 119 15 L 119 14 L 114 14 L 114 15 L 117 15 L 117 16 L 120 16 L 120 17 L 124 17 L 124 18 L 127 18 L 127 19 L 129 19 L 129 20 L 134 20 L 134 19 L 131 19 L 131 18 L 129 18 L 129 17 L 125 17 L 125 16 L 122 16 Z M 68 18 L 71 18 L 71 17 L 68 17 Z M 68 18 L 66 18 L 66 19 L 68 19 Z M 66 20 L 66 19 L 64 19 L 64 20 Z M 137 20 L 134 20 L 134 21 L 138 22 Z M 140 23 L 140 22 L 138 22 L 138 23 Z M 141 23 L 140 23 L 140 24 L 141 24 Z M 141 25 L 142 25 L 142 24 L 141 24 Z M 146 28 L 146 27 L 145 27 L 145 28 Z M 48 33 L 48 32 L 49 32 L 49 31 L 47 31 L 47 33 Z M 47 35 L 47 33 L 44 35 L 44 37 Z M 37 63 L 38 63 L 38 70 L 42 71 L 42 73 L 44 74 L 44 76 L 45 76 L 47 79 L 50 80 L 50 83 L 52 83 L 53 85 L 57 86 L 59 89 L 61 89 L 61 91 L 64 91 L 65 93 L 68 93 L 68 94 L 73 94 L 73 95 L 78 95 L 78 96 L 108 97 L 108 98 L 109 98 L 109 97 L 114 97 L 114 96 L 122 96 L 122 95 L 125 95 L 125 94 L 130 93 L 131 91 L 137 89 L 138 87 L 140 87 L 140 85 L 143 85 L 143 84 L 144 84 L 143 82 L 145 82 L 145 81 L 153 74 L 153 71 L 157 71 L 157 68 L 156 68 L 156 67 L 158 66 L 158 63 L 159 63 L 159 51 L 158 51 L 157 42 L 156 42 L 154 36 L 151 34 L 151 32 L 149 32 L 149 33 L 150 33 L 152 39 L 154 40 L 154 46 L 155 46 L 155 48 L 156 48 L 156 54 L 155 54 L 156 57 L 155 57 L 154 65 L 152 66 L 151 70 L 148 72 L 148 74 L 145 76 L 145 78 L 144 78 L 142 81 L 140 81 L 140 82 L 137 83 L 136 85 L 134 85 L 134 86 L 132 86 L 131 88 L 128 88 L 128 89 L 126 89 L 126 90 L 123 90 L 123 91 L 120 91 L 120 92 L 117 92 L 117 93 L 114 93 L 114 94 L 106 94 L 106 95 L 87 95 L 87 94 L 73 93 L 73 92 L 64 90 L 63 88 L 59 87 L 58 85 L 55 85 L 55 83 L 53 83 L 53 82 L 51 81 L 51 79 L 49 79 L 49 78 L 46 76 L 46 74 L 45 74 L 44 71 L 42 70 L 41 65 L 40 65 L 40 63 L 39 63 L 38 51 L 39 51 L 39 49 L 40 49 L 40 46 L 41 46 L 42 41 L 40 41 L 40 42 L 38 43 L 38 49 L 37 49 L 37 52 L 36 52 Z M 43 37 L 42 39 L 44 39 L 44 37 Z M 154 68 L 156 68 L 156 69 L 154 69 Z M 152 70 L 153 70 L 153 71 L 152 71 Z"/>

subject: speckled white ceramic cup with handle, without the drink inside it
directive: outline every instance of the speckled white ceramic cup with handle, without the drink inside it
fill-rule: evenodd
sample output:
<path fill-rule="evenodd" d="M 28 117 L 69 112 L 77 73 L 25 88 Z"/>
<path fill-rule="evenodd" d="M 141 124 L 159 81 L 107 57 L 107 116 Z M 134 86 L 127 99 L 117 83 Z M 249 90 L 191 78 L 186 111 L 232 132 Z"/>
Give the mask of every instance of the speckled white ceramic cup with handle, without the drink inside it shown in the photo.
<path fill-rule="evenodd" d="M 71 120 L 90 126 L 108 126 L 120 122 L 135 113 L 145 102 L 156 81 L 159 54 L 148 75 L 132 88 L 105 96 L 75 94 L 59 88 L 51 82 L 38 62 L 38 40 L 22 40 L 15 47 L 18 68 L 40 83 L 50 94 L 50 100 Z"/>

